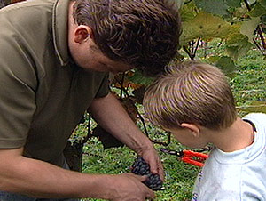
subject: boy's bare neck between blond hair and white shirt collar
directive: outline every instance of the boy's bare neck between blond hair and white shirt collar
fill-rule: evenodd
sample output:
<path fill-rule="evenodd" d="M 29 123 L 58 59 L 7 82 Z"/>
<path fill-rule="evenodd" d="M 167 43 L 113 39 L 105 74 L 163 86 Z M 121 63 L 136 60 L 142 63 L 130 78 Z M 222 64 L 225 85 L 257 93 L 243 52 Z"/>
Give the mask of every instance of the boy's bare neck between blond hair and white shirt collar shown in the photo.
<path fill-rule="evenodd" d="M 213 133 L 213 144 L 224 152 L 244 149 L 254 142 L 254 128 L 251 124 L 237 120 L 227 129 Z"/>

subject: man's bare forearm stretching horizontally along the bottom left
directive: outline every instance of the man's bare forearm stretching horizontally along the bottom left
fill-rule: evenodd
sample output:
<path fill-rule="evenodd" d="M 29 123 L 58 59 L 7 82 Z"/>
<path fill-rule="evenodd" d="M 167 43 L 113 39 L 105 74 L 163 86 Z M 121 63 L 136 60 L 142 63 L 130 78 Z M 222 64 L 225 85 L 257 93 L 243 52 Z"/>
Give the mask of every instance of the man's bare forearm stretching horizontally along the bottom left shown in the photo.
<path fill-rule="evenodd" d="M 56 165 L 22 157 L 10 156 L 0 150 L 0 190 L 26 194 L 30 197 L 98 197 L 108 198 L 113 189 L 112 175 L 76 173 Z M 12 150 L 6 150 L 12 151 Z M 14 151 L 17 151 L 14 149 Z M 4 162 L 4 163 L 3 163 Z M 109 184 L 108 184 L 108 181 Z"/>

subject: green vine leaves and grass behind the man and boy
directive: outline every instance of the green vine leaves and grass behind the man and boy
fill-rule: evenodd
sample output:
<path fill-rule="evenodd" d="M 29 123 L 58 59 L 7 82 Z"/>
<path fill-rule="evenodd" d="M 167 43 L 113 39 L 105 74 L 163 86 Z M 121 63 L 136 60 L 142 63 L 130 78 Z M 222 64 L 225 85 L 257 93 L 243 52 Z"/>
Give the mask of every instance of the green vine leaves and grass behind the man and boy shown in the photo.
<path fill-rule="evenodd" d="M 176 0 L 176 3 L 182 16 L 183 34 L 179 55 L 173 62 L 202 60 L 222 68 L 235 95 L 239 116 L 254 111 L 266 112 L 266 46 L 263 44 L 266 1 Z M 127 78 L 133 84 L 148 85 L 152 82 L 151 78 L 144 78 L 136 70 Z M 137 108 L 144 115 L 142 105 L 137 104 Z M 160 130 L 147 120 L 145 123 L 151 139 L 168 141 L 168 135 L 158 133 Z M 79 125 L 74 135 L 86 135 L 86 124 Z M 140 121 L 137 125 L 144 130 Z M 156 192 L 156 200 L 190 200 L 199 168 L 184 164 L 176 156 L 160 152 L 160 148 L 187 148 L 175 139 L 171 139 L 167 147 L 159 144 L 154 146 L 165 168 L 164 189 Z M 84 146 L 82 172 L 129 173 L 129 167 L 136 157 L 133 151 L 125 147 L 103 149 L 97 138 L 91 138 Z"/>

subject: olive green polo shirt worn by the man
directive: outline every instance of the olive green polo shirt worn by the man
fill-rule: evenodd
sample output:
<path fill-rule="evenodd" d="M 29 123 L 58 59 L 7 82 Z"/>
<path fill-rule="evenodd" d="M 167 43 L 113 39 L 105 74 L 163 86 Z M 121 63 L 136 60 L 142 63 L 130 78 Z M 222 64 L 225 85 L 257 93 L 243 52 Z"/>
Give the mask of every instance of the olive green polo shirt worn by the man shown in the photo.
<path fill-rule="evenodd" d="M 85 72 L 67 48 L 68 0 L 34 0 L 0 10 L 0 149 L 62 165 L 66 141 L 107 74 Z"/>

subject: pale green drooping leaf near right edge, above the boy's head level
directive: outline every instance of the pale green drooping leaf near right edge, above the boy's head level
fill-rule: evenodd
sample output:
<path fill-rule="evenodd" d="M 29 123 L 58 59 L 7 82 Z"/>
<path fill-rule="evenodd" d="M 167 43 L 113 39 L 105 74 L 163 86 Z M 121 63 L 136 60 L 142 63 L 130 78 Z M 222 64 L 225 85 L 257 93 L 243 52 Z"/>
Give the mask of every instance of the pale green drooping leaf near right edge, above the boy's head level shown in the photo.
<path fill-rule="evenodd" d="M 248 37 L 249 43 L 253 43 L 254 31 L 259 25 L 260 21 L 260 18 L 251 18 L 250 20 L 246 20 L 242 23 L 240 33 Z"/>

